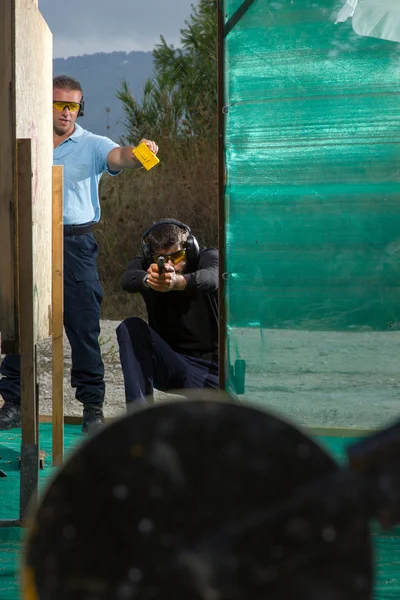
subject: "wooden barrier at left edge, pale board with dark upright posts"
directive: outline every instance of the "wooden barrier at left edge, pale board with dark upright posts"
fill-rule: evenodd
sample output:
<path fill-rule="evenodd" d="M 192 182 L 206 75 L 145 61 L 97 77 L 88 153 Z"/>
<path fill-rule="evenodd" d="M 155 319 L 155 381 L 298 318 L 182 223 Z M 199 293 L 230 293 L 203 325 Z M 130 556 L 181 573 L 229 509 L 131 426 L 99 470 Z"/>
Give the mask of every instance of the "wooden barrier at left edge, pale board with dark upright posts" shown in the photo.
<path fill-rule="evenodd" d="M 22 413 L 20 519 L 8 526 L 38 496 L 36 344 L 50 335 L 52 304 L 52 35 L 37 0 L 2 0 L 0 37 L 1 351 L 21 355 Z"/>

